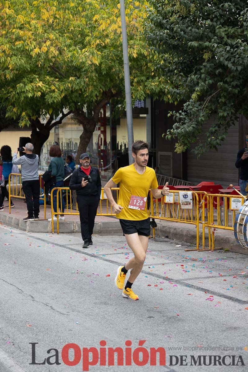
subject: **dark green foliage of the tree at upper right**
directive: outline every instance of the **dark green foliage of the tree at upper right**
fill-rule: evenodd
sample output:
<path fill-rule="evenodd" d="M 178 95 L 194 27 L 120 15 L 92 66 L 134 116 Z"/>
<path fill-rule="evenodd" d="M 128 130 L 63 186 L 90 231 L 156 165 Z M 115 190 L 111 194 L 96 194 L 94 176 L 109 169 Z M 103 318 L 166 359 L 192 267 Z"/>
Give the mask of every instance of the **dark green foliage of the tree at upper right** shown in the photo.
<path fill-rule="evenodd" d="M 184 102 L 173 112 L 175 124 L 166 138 L 181 150 L 197 141 L 199 155 L 216 149 L 238 115 L 248 118 L 247 1 L 152 0 L 146 35 L 162 60 L 168 84 L 160 93 Z M 202 124 L 215 115 L 203 142 Z"/>

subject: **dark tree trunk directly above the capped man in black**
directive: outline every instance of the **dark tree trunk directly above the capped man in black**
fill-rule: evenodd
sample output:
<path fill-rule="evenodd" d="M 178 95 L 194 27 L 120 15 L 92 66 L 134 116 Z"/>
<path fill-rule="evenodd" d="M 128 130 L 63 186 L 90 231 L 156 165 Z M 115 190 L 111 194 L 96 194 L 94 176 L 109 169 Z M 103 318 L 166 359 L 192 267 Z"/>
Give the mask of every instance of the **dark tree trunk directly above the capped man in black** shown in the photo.
<path fill-rule="evenodd" d="M 83 153 L 86 153 L 86 150 L 87 150 L 87 146 L 90 142 L 90 139 L 94 133 L 94 130 L 96 128 L 96 122 L 92 119 L 92 118 L 86 118 L 86 116 L 80 116 L 78 115 L 77 116 L 77 119 L 78 121 L 80 122 L 80 124 L 83 125 L 83 133 L 80 135 L 80 141 L 79 141 L 79 145 L 78 145 L 78 150 L 77 150 L 77 156 L 76 156 L 76 159 L 75 159 L 75 163 L 76 164 L 79 164 L 79 159 L 80 159 L 80 155 L 83 154 Z"/>

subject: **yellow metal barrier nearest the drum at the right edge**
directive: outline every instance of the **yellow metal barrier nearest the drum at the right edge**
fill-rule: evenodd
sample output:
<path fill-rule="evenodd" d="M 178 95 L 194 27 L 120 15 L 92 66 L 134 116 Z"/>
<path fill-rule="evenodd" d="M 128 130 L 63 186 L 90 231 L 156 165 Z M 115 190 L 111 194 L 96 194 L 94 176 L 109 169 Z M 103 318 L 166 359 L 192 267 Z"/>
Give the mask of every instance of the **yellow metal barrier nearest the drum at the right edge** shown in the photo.
<path fill-rule="evenodd" d="M 244 204 L 245 200 L 245 196 L 229 194 L 207 194 L 203 197 L 203 204 L 207 203 L 207 209 L 209 210 L 209 219 L 207 222 L 203 220 L 202 225 L 203 230 L 207 227 L 211 231 L 212 250 L 221 249 L 221 247 L 215 248 L 215 230 L 233 231 L 236 213 L 239 211 L 241 205 Z M 231 211 L 230 216 L 229 210 Z"/>

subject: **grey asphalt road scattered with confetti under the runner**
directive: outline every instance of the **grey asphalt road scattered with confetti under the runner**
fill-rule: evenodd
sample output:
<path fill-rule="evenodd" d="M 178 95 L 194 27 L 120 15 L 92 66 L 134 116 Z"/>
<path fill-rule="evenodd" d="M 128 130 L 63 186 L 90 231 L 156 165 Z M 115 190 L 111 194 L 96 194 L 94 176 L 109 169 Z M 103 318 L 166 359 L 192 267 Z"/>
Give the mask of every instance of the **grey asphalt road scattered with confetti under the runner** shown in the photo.
<path fill-rule="evenodd" d="M 80 234 L 29 234 L 0 226 L 0 372 L 79 372 L 90 347 L 97 362 L 101 340 L 106 341 L 102 363 L 104 350 L 119 347 L 124 366 L 115 360 L 114 366 L 97 364 L 90 371 L 247 371 L 248 256 L 185 252 L 189 246 L 151 239 L 133 285 L 139 301 L 129 301 L 113 281 L 117 267 L 132 257 L 123 236 L 96 235 L 93 246 L 82 249 Z M 126 340 L 132 345 L 125 351 Z M 150 348 L 164 348 L 166 366 L 158 359 L 157 366 L 140 367 L 133 360 L 125 366 L 130 349 L 137 361 L 140 340 L 146 340 L 144 358 L 151 356 Z M 35 363 L 57 357 L 30 365 L 31 343 L 37 343 Z M 75 366 L 62 361 L 68 343 L 78 345 Z M 194 366 L 200 355 L 202 363 L 207 356 L 205 364 L 209 355 L 219 355 L 220 362 L 227 355 L 226 364 L 237 364 L 241 356 L 245 365 L 241 358 L 236 366 L 213 365 L 212 357 L 209 366 Z M 56 360 L 61 364 L 47 364 Z"/>

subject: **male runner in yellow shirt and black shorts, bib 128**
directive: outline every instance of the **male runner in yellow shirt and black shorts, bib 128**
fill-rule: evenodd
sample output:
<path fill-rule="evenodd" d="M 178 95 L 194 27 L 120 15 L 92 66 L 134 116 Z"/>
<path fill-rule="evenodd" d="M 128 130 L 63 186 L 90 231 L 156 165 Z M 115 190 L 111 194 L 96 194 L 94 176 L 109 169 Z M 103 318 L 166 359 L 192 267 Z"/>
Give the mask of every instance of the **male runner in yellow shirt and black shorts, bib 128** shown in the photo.
<path fill-rule="evenodd" d="M 153 197 L 157 199 L 169 193 L 168 182 L 162 190 L 158 190 L 155 171 L 147 167 L 148 149 L 148 143 L 134 142 L 132 145 L 134 164 L 118 169 L 104 187 L 116 217 L 120 220 L 126 241 L 134 253 L 134 257 L 125 266 L 118 267 L 115 285 L 122 290 L 126 274 L 131 269 L 122 295 L 133 301 L 139 299 L 132 291 L 132 284 L 142 270 L 150 235 L 150 219 L 147 217 L 146 206 L 148 192 L 151 189 Z M 113 199 L 111 191 L 111 187 L 115 187 L 117 183 L 120 183 L 118 204 Z"/>

